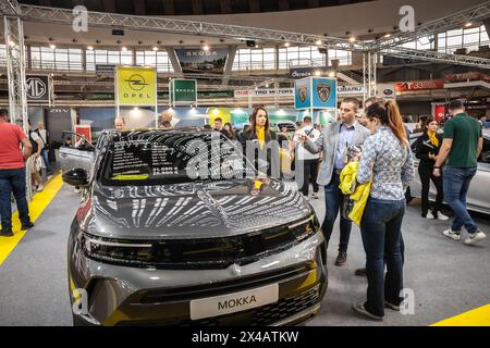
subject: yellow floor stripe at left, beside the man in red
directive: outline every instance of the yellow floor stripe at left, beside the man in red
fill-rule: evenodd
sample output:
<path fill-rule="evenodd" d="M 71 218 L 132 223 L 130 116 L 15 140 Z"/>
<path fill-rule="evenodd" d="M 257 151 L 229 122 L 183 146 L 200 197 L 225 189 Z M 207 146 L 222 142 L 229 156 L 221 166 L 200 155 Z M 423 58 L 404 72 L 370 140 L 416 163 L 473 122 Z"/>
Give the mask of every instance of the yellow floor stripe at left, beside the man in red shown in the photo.
<path fill-rule="evenodd" d="M 39 217 L 46 207 L 48 207 L 58 194 L 61 186 L 63 186 L 63 181 L 61 174 L 58 174 L 45 186 L 45 189 L 41 192 L 34 195 L 33 200 L 29 203 L 29 216 L 32 222 L 36 222 L 37 217 Z M 19 220 L 17 211 L 12 215 L 12 229 L 14 233 L 13 237 L 0 237 L 0 265 L 2 265 L 3 261 L 5 261 L 26 234 L 26 231 L 21 231 L 21 221 Z"/>

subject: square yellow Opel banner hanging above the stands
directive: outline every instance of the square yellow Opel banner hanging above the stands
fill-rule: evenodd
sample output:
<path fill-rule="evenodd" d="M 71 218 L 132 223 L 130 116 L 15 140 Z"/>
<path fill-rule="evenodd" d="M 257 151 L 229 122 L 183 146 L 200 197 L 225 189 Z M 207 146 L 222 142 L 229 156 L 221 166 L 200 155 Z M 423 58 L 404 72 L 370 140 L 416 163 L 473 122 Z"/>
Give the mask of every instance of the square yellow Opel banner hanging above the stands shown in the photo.
<path fill-rule="evenodd" d="M 155 105 L 157 102 L 156 70 L 119 66 L 117 94 L 120 105 Z"/>

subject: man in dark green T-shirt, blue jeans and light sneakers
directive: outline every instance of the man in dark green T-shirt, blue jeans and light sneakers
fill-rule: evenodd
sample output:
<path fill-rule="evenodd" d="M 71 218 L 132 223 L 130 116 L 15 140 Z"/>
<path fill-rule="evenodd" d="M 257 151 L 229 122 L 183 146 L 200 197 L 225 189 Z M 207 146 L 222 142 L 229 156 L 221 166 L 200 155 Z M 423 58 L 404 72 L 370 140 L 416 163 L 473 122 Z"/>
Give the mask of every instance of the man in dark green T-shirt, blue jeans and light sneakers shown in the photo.
<path fill-rule="evenodd" d="M 465 226 L 469 237 L 466 245 L 474 245 L 486 238 L 466 209 L 466 195 L 469 184 L 477 172 L 477 159 L 483 147 L 481 126 L 465 113 L 461 100 L 454 100 L 449 107 L 452 119 L 444 124 L 444 140 L 433 166 L 433 175 L 441 176 L 441 165 L 448 159 L 443 172 L 444 198 L 454 211 L 454 221 L 450 229 L 442 234 L 451 239 L 461 239 L 461 229 Z"/>

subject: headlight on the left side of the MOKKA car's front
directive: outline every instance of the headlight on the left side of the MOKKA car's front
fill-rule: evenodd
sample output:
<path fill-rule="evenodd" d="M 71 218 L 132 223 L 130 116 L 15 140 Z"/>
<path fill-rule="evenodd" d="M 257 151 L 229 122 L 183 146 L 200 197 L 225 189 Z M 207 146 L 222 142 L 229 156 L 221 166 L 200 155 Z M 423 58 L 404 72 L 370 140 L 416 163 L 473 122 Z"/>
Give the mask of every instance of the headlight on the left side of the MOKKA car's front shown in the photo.
<path fill-rule="evenodd" d="M 151 244 L 100 238 L 86 233 L 82 235 L 81 244 L 87 257 L 100 261 L 118 263 L 151 261 Z"/>

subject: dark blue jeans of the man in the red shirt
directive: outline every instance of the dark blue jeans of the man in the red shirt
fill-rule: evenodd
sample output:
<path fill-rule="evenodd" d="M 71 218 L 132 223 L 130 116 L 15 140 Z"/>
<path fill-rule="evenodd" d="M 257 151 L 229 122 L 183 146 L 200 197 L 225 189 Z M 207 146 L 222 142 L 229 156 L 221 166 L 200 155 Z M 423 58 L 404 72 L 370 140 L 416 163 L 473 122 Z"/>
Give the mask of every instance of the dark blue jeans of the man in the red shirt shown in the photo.
<path fill-rule="evenodd" d="M 10 204 L 12 192 L 17 202 L 19 217 L 22 224 L 27 225 L 30 222 L 25 190 L 25 167 L 0 170 L 0 215 L 3 231 L 12 231 L 12 207 Z"/>

